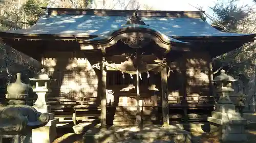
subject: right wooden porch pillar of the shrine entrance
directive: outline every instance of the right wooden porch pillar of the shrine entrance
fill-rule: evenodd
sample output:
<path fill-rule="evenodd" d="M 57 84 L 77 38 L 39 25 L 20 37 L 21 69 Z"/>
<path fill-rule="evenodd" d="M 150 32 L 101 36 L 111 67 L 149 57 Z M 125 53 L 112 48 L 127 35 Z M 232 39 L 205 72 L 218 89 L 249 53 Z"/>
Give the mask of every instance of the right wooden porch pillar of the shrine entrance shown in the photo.
<path fill-rule="evenodd" d="M 161 71 L 161 89 L 162 89 L 162 112 L 163 126 L 169 126 L 169 105 L 168 105 L 168 89 L 167 89 L 167 68 Z"/>

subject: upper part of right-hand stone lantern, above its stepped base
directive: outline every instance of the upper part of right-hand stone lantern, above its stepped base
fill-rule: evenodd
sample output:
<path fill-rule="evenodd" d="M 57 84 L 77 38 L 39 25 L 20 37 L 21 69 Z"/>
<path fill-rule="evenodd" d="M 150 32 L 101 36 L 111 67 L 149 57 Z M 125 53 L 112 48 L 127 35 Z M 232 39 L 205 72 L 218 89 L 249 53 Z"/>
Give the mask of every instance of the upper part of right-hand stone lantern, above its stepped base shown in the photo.
<path fill-rule="evenodd" d="M 230 100 L 229 95 L 234 91 L 231 88 L 231 83 L 237 81 L 232 76 L 227 75 L 224 70 L 221 70 L 221 74 L 216 76 L 214 80 L 217 83 L 216 92 L 220 95 L 220 99 L 217 102 L 218 104 L 233 104 Z"/>

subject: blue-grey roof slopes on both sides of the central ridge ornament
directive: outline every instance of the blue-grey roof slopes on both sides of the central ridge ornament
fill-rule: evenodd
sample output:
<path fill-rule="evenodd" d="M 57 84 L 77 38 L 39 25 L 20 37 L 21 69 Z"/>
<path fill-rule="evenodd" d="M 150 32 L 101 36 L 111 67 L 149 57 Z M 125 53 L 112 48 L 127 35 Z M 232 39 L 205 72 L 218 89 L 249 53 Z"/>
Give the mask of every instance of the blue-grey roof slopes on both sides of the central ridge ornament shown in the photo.
<path fill-rule="evenodd" d="M 121 27 L 130 16 L 61 14 L 41 17 L 26 30 L 8 31 L 21 34 L 91 35 L 100 36 Z M 243 34 L 224 33 L 196 17 L 142 17 L 150 27 L 166 36 L 225 37 Z M 2 31 L 3 32 L 3 31 Z"/>

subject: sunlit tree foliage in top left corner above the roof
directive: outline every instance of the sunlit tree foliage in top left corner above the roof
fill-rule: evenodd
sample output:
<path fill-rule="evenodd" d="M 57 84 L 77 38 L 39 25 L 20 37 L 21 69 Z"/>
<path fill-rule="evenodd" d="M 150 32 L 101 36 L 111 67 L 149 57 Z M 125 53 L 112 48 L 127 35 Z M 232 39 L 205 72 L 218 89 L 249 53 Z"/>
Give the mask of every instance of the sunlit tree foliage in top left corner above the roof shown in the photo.
<path fill-rule="evenodd" d="M 36 0 L 23 1 L 3 1 L 0 2 L 1 30 L 16 30 L 34 25 L 38 18 L 44 14 L 40 7 L 46 7 L 47 3 L 40 3 Z"/>

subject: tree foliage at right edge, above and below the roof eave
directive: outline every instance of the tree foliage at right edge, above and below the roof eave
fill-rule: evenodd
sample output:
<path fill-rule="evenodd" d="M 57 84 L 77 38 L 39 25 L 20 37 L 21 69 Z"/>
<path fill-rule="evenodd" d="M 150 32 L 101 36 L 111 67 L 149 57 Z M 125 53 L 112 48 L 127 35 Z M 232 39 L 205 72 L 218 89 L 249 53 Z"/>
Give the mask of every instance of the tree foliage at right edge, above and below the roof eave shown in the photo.
<path fill-rule="evenodd" d="M 211 24 L 218 30 L 236 33 L 255 33 L 256 11 L 252 6 L 238 6 L 236 0 L 221 2 L 211 9 L 214 11 L 216 21 Z M 249 103 L 250 96 L 256 92 L 256 44 L 248 43 L 238 49 L 219 56 L 213 61 L 215 70 L 224 68 L 229 75 L 239 79 L 235 88 L 237 92 L 246 95 Z M 218 71 L 217 70 L 217 71 Z M 217 72 L 216 71 L 216 72 Z M 215 73 L 216 73 L 215 72 Z"/>

